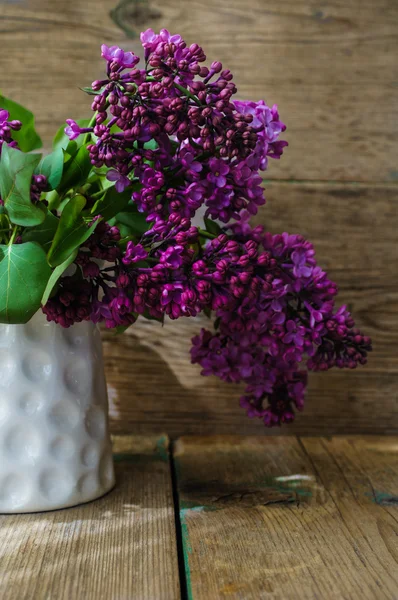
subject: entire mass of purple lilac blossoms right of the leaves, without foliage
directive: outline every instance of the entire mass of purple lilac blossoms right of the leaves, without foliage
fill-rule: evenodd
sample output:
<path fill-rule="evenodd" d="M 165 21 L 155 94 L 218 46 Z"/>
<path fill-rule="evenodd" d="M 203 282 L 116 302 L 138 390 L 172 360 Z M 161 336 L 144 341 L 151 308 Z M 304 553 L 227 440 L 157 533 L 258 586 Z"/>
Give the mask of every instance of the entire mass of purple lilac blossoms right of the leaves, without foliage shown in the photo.
<path fill-rule="evenodd" d="M 179 35 L 148 30 L 141 41 L 143 68 L 133 53 L 102 46 L 95 124 L 68 120 L 65 131 L 93 134 L 92 165 L 118 192 L 131 189 L 147 230 L 123 238 L 117 216 L 112 225 L 98 218 L 75 261 L 80 279 L 64 277 L 43 310 L 64 327 L 212 311 L 215 331 L 194 338 L 192 361 L 204 375 L 245 382 L 250 417 L 289 422 L 303 407 L 307 370 L 364 364 L 371 341 L 345 307 L 336 310 L 337 287 L 309 242 L 248 223 L 265 202 L 259 171 L 287 145 L 277 107 L 234 100 L 230 71 L 204 66 L 202 48 Z M 227 225 L 193 227 L 202 206 Z"/>

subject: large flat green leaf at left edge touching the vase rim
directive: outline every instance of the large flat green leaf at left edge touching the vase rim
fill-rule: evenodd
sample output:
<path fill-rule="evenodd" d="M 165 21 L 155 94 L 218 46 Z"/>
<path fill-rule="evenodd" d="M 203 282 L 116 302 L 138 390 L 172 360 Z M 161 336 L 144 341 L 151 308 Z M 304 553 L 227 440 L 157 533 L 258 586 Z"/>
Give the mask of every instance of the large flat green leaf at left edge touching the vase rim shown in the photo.
<path fill-rule="evenodd" d="M 50 275 L 39 244 L 0 246 L 0 323 L 27 323 L 40 308 Z"/>

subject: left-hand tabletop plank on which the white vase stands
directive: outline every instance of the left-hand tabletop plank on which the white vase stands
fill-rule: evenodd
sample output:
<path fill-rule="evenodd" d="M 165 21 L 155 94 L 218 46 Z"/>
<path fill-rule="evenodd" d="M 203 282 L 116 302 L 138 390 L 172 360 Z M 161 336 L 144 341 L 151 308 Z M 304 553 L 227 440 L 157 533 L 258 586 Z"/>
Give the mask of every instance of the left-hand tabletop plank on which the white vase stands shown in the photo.
<path fill-rule="evenodd" d="M 116 438 L 114 449 L 104 498 L 0 516 L 3 600 L 180 598 L 168 439 Z"/>

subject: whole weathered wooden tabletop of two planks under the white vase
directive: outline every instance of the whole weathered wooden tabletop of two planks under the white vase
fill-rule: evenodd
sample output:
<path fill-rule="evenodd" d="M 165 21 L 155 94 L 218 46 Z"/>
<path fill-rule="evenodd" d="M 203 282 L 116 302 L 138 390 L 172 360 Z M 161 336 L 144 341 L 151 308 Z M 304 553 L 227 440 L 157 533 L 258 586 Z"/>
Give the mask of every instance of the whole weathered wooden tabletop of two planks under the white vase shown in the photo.
<path fill-rule="evenodd" d="M 0 517 L 3 600 L 396 599 L 398 438 L 123 436 L 117 486 Z"/>

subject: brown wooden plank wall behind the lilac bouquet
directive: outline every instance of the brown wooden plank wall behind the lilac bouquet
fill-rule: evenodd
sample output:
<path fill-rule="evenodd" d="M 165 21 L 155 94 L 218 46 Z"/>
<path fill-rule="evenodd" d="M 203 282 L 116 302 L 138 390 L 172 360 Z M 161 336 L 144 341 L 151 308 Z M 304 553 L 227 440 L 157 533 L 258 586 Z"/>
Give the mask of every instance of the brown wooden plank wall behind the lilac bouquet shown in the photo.
<path fill-rule="evenodd" d="M 36 112 L 49 146 L 62 120 L 88 112 L 78 86 L 101 74 L 100 44 L 137 50 L 131 36 L 147 27 L 197 41 L 236 74 L 242 98 L 279 105 L 290 146 L 270 165 L 256 220 L 315 243 L 341 302 L 374 339 L 366 368 L 311 377 L 305 411 L 283 432 L 397 432 L 397 3 L 3 0 L 2 90 Z M 190 365 L 200 326 L 104 333 L 114 431 L 263 432 L 239 408 L 238 389 Z"/>

